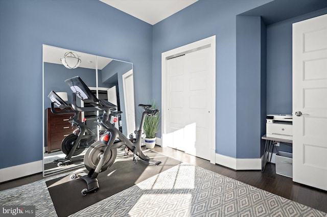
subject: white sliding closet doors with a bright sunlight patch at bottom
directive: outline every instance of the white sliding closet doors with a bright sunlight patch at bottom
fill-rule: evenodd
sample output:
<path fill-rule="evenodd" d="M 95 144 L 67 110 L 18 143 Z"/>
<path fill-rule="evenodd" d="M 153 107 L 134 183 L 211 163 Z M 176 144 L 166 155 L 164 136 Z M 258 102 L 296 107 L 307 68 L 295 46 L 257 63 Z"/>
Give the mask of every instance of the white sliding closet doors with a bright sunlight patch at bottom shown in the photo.
<path fill-rule="evenodd" d="M 203 48 L 167 60 L 168 146 L 208 160 L 215 103 L 209 51 Z"/>

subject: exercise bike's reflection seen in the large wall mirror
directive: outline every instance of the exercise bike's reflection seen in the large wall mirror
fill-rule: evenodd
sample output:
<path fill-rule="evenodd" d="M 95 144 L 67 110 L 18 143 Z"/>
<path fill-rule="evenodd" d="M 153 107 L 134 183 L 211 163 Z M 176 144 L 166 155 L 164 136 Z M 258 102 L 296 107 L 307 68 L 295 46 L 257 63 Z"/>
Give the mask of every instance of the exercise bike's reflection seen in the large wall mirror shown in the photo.
<path fill-rule="evenodd" d="M 61 142 L 61 151 L 66 155 L 64 158 L 55 159 L 53 162 L 58 163 L 58 167 L 72 164 L 72 157 L 81 154 L 85 148 L 97 141 L 97 133 L 92 131 L 83 122 L 79 120 L 80 111 L 73 110 L 71 105 L 68 105 L 56 92 L 51 91 L 48 95 L 51 102 L 51 112 L 54 114 L 71 114 L 74 116 L 69 119 L 69 123 L 72 127 L 77 127 L 73 133 L 68 134 Z M 73 98 L 73 97 L 72 97 Z M 76 98 L 76 97 L 75 97 Z M 55 105 L 58 106 L 61 111 L 55 110 Z M 88 109 L 88 111 L 94 110 L 94 108 Z"/>

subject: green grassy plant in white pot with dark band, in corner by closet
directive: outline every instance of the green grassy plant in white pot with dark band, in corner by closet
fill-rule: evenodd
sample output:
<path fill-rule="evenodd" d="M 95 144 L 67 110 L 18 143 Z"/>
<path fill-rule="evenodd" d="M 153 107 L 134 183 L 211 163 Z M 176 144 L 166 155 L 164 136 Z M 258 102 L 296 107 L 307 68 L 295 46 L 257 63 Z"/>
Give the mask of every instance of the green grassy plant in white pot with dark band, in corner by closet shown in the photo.
<path fill-rule="evenodd" d="M 151 103 L 152 108 L 156 108 L 154 102 Z M 146 116 L 144 120 L 144 132 L 145 132 L 145 146 L 148 149 L 152 149 L 155 146 L 155 133 L 158 131 L 160 116 Z"/>

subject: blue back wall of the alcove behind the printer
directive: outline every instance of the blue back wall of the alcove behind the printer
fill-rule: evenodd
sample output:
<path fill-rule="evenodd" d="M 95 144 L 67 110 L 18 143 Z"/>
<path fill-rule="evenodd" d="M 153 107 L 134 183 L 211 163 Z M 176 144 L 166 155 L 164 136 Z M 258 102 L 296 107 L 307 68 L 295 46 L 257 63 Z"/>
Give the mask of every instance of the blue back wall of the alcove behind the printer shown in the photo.
<path fill-rule="evenodd" d="M 292 113 L 292 23 L 327 14 L 327 8 L 267 26 L 267 114 Z M 281 144 L 276 151 L 292 152 Z"/>

